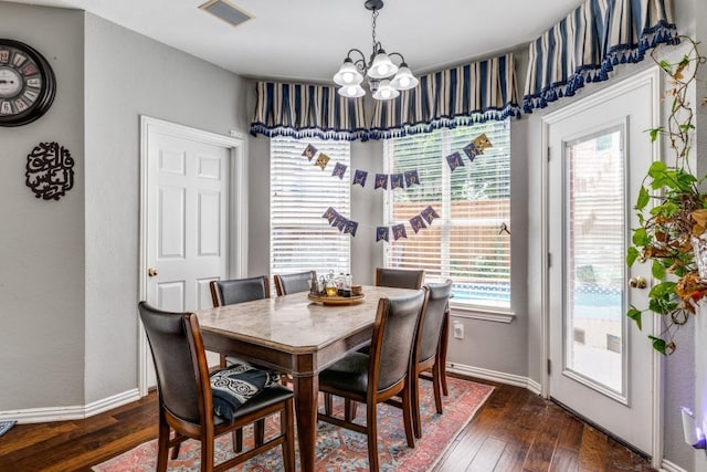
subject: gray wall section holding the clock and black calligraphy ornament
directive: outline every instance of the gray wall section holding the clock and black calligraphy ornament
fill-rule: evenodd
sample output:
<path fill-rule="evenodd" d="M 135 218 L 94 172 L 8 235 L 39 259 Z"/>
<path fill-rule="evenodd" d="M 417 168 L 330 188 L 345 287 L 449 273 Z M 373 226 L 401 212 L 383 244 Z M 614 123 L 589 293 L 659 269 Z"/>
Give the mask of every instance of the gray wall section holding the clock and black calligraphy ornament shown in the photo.
<path fill-rule="evenodd" d="M 83 15 L 0 2 L 0 36 L 49 61 L 54 104 L 36 122 L 0 127 L 0 411 L 84 403 Z M 27 156 L 56 141 L 75 160 L 59 201 L 24 185 Z"/>

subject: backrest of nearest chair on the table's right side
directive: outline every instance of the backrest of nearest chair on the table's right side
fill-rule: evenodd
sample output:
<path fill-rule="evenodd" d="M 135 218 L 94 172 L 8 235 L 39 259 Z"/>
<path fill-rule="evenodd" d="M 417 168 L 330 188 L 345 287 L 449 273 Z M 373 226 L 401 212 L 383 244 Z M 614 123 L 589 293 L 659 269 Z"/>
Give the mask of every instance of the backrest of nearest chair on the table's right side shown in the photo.
<path fill-rule="evenodd" d="M 378 391 L 408 375 L 425 298 L 426 292 L 420 290 L 378 302 L 369 367 L 370 385 L 377 385 Z"/>

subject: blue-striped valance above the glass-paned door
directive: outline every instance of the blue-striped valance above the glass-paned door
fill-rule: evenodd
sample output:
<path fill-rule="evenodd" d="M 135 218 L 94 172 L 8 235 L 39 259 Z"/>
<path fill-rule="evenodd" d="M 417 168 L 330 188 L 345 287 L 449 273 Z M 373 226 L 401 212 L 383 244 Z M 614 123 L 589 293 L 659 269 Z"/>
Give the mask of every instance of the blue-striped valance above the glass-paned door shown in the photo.
<path fill-rule="evenodd" d="M 524 111 L 605 81 L 614 65 L 640 62 L 675 35 L 672 0 L 584 0 L 530 43 Z"/>

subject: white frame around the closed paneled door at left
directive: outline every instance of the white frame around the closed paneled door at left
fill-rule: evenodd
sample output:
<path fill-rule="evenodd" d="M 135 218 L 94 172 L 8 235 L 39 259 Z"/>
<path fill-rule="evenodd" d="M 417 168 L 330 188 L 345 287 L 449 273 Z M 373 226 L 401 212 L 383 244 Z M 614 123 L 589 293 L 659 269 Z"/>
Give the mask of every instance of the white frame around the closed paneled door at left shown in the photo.
<path fill-rule="evenodd" d="M 139 300 L 147 297 L 147 196 L 148 196 L 148 149 L 155 133 L 186 138 L 229 149 L 229 220 L 228 231 L 228 276 L 243 277 L 247 273 L 247 167 L 243 139 L 218 135 L 202 129 L 140 115 L 140 221 L 139 221 Z M 136 312 L 137 314 L 137 312 Z M 143 323 L 138 316 L 138 389 L 140 397 L 148 394 L 147 373 L 150 349 Z"/>

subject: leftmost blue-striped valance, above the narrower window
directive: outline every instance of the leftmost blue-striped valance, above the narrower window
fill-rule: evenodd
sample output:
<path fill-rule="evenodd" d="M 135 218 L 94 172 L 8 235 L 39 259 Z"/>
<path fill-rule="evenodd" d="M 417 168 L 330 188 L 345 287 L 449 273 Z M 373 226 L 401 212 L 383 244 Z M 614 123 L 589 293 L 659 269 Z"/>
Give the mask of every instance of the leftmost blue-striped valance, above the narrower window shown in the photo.
<path fill-rule="evenodd" d="M 251 134 L 368 139 L 362 98 L 346 98 L 326 85 L 258 82 Z"/>

